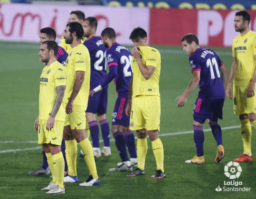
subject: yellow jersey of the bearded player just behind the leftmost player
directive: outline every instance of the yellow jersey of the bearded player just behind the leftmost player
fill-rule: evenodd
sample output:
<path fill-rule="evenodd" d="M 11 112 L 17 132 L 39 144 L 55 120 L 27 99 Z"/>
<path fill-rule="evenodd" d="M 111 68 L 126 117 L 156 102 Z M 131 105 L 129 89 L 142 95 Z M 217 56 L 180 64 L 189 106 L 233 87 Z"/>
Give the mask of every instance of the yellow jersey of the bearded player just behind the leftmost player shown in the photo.
<path fill-rule="evenodd" d="M 72 94 L 74 82 L 76 80 L 76 71 L 84 71 L 85 78 L 80 91 L 74 99 L 74 104 L 87 107 L 90 88 L 91 63 L 90 54 L 85 45 L 79 44 L 72 48 L 69 56 L 67 56 L 64 68 L 67 74 L 66 91 L 63 99 L 64 102 L 67 104 L 69 97 Z"/>

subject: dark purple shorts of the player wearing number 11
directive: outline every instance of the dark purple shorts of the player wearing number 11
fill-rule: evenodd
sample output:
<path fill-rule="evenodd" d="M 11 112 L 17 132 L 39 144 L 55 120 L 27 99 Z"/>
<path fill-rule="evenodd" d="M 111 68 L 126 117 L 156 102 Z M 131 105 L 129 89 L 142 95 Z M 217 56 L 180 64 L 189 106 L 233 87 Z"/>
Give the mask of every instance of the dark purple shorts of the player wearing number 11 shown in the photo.
<path fill-rule="evenodd" d="M 217 122 L 222 119 L 222 108 L 224 99 L 202 99 L 197 98 L 194 104 L 194 121 L 204 123 L 206 119 Z"/>

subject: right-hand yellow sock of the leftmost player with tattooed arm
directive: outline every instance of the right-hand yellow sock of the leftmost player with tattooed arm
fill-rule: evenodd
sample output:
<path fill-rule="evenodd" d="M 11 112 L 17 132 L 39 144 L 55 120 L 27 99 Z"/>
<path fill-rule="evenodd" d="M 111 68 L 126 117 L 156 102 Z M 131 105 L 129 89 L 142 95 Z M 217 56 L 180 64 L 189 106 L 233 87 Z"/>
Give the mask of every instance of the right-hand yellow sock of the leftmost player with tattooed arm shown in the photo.
<path fill-rule="evenodd" d="M 52 175 L 52 177 L 55 177 L 55 184 L 59 185 L 61 189 L 64 189 L 65 163 L 62 152 L 52 155 L 52 162 L 54 167 L 54 174 Z"/>

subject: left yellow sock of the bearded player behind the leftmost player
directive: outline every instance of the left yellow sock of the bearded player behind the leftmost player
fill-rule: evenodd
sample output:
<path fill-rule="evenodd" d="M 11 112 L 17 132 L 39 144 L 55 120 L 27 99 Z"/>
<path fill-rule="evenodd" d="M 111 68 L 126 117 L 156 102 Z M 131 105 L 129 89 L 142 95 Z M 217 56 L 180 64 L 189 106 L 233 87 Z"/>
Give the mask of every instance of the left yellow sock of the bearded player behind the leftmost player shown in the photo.
<path fill-rule="evenodd" d="M 68 175 L 77 176 L 76 173 L 76 156 L 77 156 L 77 144 L 76 140 L 65 140 L 66 145 L 66 160 L 68 167 Z"/>

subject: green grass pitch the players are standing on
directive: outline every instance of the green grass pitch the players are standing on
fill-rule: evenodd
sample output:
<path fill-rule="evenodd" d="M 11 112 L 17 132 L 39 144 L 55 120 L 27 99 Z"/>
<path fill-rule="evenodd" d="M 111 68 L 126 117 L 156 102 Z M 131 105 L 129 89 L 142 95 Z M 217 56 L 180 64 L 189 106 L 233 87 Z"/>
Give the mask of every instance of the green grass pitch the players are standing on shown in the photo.
<path fill-rule="evenodd" d="M 192 111 L 198 88 L 189 96 L 185 107 L 178 109 L 175 98 L 187 87 L 192 74 L 188 56 L 182 47 L 156 46 L 161 49 L 161 131 L 175 133 L 192 131 Z M 0 198 L 255 198 L 256 164 L 241 163 L 242 173 L 236 181 L 239 187 L 252 187 L 250 192 L 217 192 L 223 187 L 224 165 L 243 152 L 239 128 L 223 130 L 225 156 L 220 164 L 214 163 L 216 143 L 211 131 L 205 132 L 205 165 L 191 165 L 185 160 L 195 155 L 193 134 L 163 136 L 165 179 L 150 179 L 156 170 L 152 146 L 148 139 L 148 153 L 145 163 L 145 176 L 125 177 L 126 172 L 109 172 L 120 161 L 114 142 L 111 142 L 112 156 L 96 159 L 101 185 L 81 187 L 66 184 L 66 194 L 46 196 L 40 190 L 50 182 L 48 175 L 28 176 L 26 173 L 38 168 L 42 163 L 40 149 L 4 152 L 38 147 L 37 133 L 33 123 L 38 112 L 39 77 L 42 65 L 39 63 L 38 44 L 0 43 Z M 213 48 L 227 68 L 230 68 L 231 49 Z M 114 84 L 109 86 L 107 119 L 111 122 L 112 110 L 116 100 Z M 237 126 L 238 116 L 233 114 L 232 100 L 225 100 L 221 127 Z M 204 129 L 209 129 L 208 124 Z M 111 139 L 112 139 L 111 135 Z M 5 143 L 3 141 L 13 141 Z M 101 143 L 102 145 L 102 143 Z M 80 150 L 80 148 L 78 147 Z M 252 150 L 256 151 L 255 129 L 253 128 Z M 83 182 L 88 170 L 82 158 L 77 158 L 78 177 Z M 233 186 L 230 186 L 233 187 Z"/>

